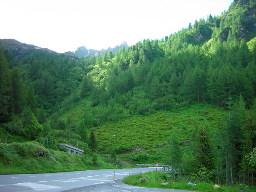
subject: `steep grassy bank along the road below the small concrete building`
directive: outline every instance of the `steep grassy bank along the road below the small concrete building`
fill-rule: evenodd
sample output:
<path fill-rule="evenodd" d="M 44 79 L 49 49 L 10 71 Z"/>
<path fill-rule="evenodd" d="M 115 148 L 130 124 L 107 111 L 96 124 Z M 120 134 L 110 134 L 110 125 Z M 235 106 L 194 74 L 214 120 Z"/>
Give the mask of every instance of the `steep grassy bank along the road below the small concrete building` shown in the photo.
<path fill-rule="evenodd" d="M 0 174 L 68 172 L 117 168 L 108 159 L 97 155 L 94 165 L 90 154 L 71 155 L 44 148 L 37 142 L 0 144 Z"/>

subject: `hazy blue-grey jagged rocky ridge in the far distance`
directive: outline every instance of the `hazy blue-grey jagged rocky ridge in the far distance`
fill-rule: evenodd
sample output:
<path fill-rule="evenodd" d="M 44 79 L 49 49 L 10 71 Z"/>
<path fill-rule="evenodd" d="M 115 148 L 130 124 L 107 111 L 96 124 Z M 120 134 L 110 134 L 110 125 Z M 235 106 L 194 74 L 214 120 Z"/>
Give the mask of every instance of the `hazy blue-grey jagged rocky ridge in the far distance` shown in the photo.
<path fill-rule="evenodd" d="M 98 55 L 104 55 L 105 52 L 112 51 L 113 53 L 116 53 L 119 49 L 124 47 L 125 49 L 128 47 L 128 44 L 126 41 L 124 41 L 121 45 L 117 45 L 114 48 L 108 47 L 107 50 L 101 49 L 100 51 L 94 50 L 94 49 L 87 49 L 86 47 L 78 47 L 76 51 L 67 51 L 64 54 L 68 56 L 78 57 L 78 58 L 85 58 L 85 57 L 91 57 L 91 56 L 98 56 Z"/>

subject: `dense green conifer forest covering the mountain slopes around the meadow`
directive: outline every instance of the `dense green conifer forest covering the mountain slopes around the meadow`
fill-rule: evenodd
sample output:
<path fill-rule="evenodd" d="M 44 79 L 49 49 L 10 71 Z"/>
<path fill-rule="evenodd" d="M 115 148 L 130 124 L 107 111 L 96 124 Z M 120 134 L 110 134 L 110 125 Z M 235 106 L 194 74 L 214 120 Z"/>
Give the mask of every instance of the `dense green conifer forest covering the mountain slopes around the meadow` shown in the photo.
<path fill-rule="evenodd" d="M 115 54 L 77 59 L 36 51 L 19 58 L 0 50 L 0 134 L 12 141 L 58 142 L 97 151 L 94 128 L 130 115 L 172 111 L 193 103 L 229 110 L 215 135 L 199 126 L 189 153 L 175 158 L 186 175 L 233 185 L 256 180 L 256 1 L 235 0 L 221 16 L 195 20 L 160 40 L 142 40 Z M 60 117 L 81 99 L 79 121 Z M 216 138 L 213 140 L 212 138 Z M 186 158 L 185 158 L 186 157 Z M 184 160 L 186 159 L 186 160 Z"/>

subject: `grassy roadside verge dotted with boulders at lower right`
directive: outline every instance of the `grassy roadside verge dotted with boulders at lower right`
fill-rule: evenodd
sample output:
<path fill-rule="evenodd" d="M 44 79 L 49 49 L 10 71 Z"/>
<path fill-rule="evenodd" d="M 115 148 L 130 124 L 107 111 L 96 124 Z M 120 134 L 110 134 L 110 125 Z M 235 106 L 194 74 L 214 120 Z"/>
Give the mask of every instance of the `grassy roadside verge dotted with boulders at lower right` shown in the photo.
<path fill-rule="evenodd" d="M 140 178 L 145 178 L 148 180 L 148 183 L 137 181 Z M 174 182 L 170 174 L 166 174 L 165 172 L 147 172 L 147 173 L 139 173 L 138 175 L 129 175 L 123 182 L 128 185 L 135 185 L 140 187 L 148 187 L 148 188 L 163 188 L 163 189 L 182 189 L 189 191 L 200 191 L 200 192 L 237 192 L 237 189 L 249 189 L 252 192 L 256 191 L 255 186 L 248 187 L 246 185 L 235 185 L 233 187 L 220 185 L 222 189 L 213 189 L 213 185 L 215 183 L 207 183 L 207 182 L 199 182 L 193 181 L 196 183 L 195 187 L 189 186 L 188 182 L 190 181 L 182 181 L 182 182 Z M 169 182 L 169 185 L 161 185 L 161 183 Z"/>

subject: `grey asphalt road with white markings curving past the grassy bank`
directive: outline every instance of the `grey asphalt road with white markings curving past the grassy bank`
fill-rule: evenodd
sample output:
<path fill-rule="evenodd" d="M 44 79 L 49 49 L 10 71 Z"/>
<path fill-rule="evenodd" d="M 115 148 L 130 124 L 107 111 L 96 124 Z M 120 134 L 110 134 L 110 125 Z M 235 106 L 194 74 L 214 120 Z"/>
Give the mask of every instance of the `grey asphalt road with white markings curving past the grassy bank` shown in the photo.
<path fill-rule="evenodd" d="M 91 185 L 110 183 L 138 172 L 156 168 L 101 169 L 79 172 L 0 175 L 0 192 L 62 192 Z M 113 183 L 112 183 L 113 184 Z M 102 185 L 101 185 L 102 186 Z"/>

